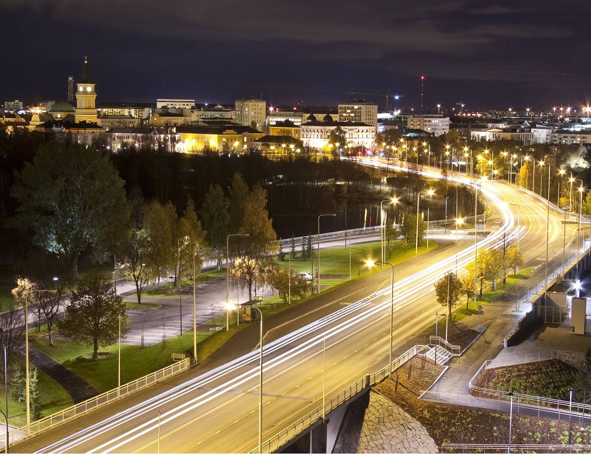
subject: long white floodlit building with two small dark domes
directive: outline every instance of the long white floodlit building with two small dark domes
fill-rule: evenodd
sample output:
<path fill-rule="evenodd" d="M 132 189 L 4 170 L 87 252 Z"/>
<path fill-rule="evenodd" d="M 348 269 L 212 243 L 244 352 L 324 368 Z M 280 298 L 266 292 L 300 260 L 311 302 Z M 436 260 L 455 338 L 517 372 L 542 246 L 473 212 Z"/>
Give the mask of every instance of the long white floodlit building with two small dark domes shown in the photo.
<path fill-rule="evenodd" d="M 332 116 L 325 115 L 322 121 L 317 121 L 312 114 L 307 121 L 301 124 L 301 141 L 306 147 L 323 148 L 329 140 L 330 131 L 340 126 L 347 138 L 347 143 L 342 144 L 352 147 L 373 147 L 375 144 L 374 125 L 352 121 L 333 121 Z"/>

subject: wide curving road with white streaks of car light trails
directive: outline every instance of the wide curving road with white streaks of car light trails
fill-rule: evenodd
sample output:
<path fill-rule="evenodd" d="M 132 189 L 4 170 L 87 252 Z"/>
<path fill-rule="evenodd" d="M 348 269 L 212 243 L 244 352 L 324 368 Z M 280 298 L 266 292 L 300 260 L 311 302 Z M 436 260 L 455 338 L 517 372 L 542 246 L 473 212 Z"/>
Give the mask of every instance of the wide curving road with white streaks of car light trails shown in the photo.
<path fill-rule="evenodd" d="M 440 177 L 434 171 L 429 176 Z M 462 176 L 451 179 L 479 184 Z M 488 236 L 477 236 L 478 248 L 494 247 L 505 234 L 517 237 L 527 263 L 549 257 L 561 260 L 563 214 L 538 196 L 502 182 L 488 182 L 488 203 L 500 216 L 492 219 Z M 567 230 L 572 235 L 574 231 Z M 434 323 L 443 308 L 434 300 L 433 284 L 446 271 L 461 273 L 473 258 L 474 235 L 436 249 L 428 260 L 398 265 L 394 292 L 394 343 L 402 345 Z M 569 239 L 571 236 L 569 237 Z M 570 242 L 572 244 L 572 242 Z M 571 252 L 572 251 L 567 251 Z M 541 270 L 543 272 L 543 268 Z M 548 271 L 551 271 L 548 267 Z M 330 397 L 363 375 L 387 365 L 390 307 L 389 268 L 372 288 L 358 290 L 334 311 L 301 327 L 286 326 L 264 344 L 264 434 L 266 440 L 303 414 L 322 404 L 323 369 Z M 297 323 L 294 323 L 296 325 Z M 325 337 L 326 336 L 326 337 Z M 326 338 L 326 366 L 322 346 Z M 186 372 L 190 374 L 190 372 Z M 189 377 L 189 375 L 187 375 Z M 139 393 L 138 393 L 139 394 Z M 46 434 L 25 440 L 13 452 L 157 452 L 160 411 L 161 452 L 248 452 L 258 433 L 258 351 L 144 398 L 129 397 L 129 408 L 96 421 L 92 413 Z M 125 400 L 121 401 L 122 403 Z M 99 410 L 98 410 L 99 411 Z"/>

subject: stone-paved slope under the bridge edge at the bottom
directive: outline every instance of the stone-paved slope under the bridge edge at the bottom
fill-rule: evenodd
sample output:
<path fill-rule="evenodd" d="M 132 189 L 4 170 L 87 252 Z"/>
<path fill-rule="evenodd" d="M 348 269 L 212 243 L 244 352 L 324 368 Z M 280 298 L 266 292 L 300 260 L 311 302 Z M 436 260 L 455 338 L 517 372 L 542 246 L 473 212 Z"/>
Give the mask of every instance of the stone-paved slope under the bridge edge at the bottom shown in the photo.
<path fill-rule="evenodd" d="M 337 436 L 334 453 L 436 453 L 421 423 L 375 391 L 369 406 L 352 404 Z"/>

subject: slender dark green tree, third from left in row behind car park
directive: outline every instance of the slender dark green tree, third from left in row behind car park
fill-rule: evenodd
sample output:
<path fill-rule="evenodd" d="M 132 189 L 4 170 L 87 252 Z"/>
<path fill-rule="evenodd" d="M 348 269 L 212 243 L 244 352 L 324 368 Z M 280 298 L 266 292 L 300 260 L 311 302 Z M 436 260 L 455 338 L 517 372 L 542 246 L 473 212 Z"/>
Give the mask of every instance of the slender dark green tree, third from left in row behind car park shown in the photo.
<path fill-rule="evenodd" d="M 203 208 L 199 212 L 203 219 L 203 228 L 207 231 L 206 240 L 216 251 L 218 270 L 222 269 L 222 251 L 226 247 L 230 226 L 229 206 L 230 200 L 224 195 L 219 184 L 211 184 L 203 198 Z"/>

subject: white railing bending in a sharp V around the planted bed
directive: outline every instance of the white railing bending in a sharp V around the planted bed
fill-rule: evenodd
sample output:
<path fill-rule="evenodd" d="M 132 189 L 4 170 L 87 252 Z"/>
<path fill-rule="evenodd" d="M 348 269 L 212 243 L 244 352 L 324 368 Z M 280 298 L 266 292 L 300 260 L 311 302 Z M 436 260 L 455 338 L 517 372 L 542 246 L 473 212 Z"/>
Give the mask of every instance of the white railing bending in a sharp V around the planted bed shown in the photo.
<path fill-rule="evenodd" d="M 525 362 L 519 363 L 519 362 L 515 362 L 515 361 L 527 361 L 527 359 L 531 359 L 531 361 L 528 361 L 528 362 L 545 361 L 546 359 L 553 359 L 554 352 L 551 351 L 551 352 L 543 352 L 540 354 L 521 355 L 521 356 L 528 356 L 529 358 L 516 357 L 516 359 L 508 358 L 504 361 L 507 363 L 506 365 L 525 364 Z M 486 371 L 486 369 L 493 368 L 493 367 L 487 367 L 493 361 L 496 361 L 496 360 L 493 359 L 493 360 L 485 361 L 482 364 L 482 366 L 480 366 L 480 368 L 478 369 L 478 372 L 476 372 L 476 374 L 474 374 L 474 376 L 472 378 L 470 378 L 470 381 L 468 382 L 468 387 L 470 388 L 470 393 L 472 393 L 472 396 L 475 396 L 475 397 L 477 396 L 479 398 L 482 397 L 482 398 L 486 398 L 488 400 L 504 401 L 506 403 L 507 401 L 511 400 L 511 396 L 509 395 L 509 391 L 491 390 L 489 388 L 483 388 L 480 386 L 476 386 L 476 380 L 478 380 L 480 375 L 482 375 Z M 496 367 L 500 367 L 500 364 L 502 364 L 502 361 L 503 360 L 499 360 L 498 363 L 493 363 L 493 364 L 499 364 Z M 544 410 L 555 409 L 558 411 L 559 415 L 564 413 L 564 411 L 566 411 L 566 414 L 568 414 L 569 408 L 571 408 L 571 411 L 573 414 L 579 414 L 579 413 L 591 414 L 591 405 L 589 405 L 589 404 L 585 404 L 583 406 L 582 403 L 569 402 L 567 400 L 553 399 L 550 397 L 541 397 L 539 395 L 513 393 L 513 401 L 514 401 L 514 404 L 523 405 L 523 406 L 527 405 L 527 406 L 531 406 L 532 408 L 538 408 L 538 411 L 540 408 L 543 408 Z M 559 418 L 560 418 L 560 416 L 559 416 Z"/>

